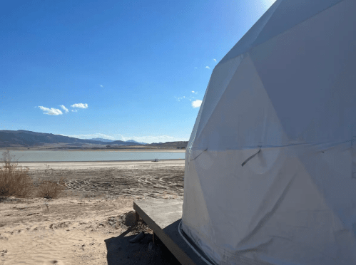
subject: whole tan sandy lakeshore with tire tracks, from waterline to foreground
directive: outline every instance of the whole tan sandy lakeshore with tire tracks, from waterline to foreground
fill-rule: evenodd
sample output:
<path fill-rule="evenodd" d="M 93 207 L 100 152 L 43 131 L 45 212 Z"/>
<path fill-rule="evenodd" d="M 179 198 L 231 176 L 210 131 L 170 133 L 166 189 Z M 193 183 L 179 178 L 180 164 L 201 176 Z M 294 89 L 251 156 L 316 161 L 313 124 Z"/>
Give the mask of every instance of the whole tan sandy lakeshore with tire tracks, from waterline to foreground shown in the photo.
<path fill-rule="evenodd" d="M 59 199 L 0 199 L 0 264 L 178 264 L 132 211 L 135 199 L 183 199 L 183 160 L 20 165 L 35 184 L 49 165 L 67 189 Z"/>

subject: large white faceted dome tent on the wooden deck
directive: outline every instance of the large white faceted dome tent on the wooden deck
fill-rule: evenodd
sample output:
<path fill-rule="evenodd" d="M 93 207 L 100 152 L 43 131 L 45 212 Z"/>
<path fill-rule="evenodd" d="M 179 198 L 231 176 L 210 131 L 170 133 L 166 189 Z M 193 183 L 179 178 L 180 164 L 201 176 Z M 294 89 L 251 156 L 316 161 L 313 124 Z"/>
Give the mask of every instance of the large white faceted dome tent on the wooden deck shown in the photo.
<path fill-rule="evenodd" d="M 356 1 L 277 0 L 215 66 L 183 232 L 215 264 L 356 264 Z"/>

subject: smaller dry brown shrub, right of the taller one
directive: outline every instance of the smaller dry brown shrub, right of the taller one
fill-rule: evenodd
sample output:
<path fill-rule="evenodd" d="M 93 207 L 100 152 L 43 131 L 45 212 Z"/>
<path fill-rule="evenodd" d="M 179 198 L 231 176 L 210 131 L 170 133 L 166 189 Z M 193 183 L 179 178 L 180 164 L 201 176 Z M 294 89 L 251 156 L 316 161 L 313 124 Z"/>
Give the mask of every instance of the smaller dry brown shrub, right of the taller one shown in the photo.
<path fill-rule="evenodd" d="M 38 196 L 46 199 L 54 199 L 59 197 L 66 189 L 64 181 L 66 180 L 63 177 L 63 173 L 58 170 L 50 168 L 49 165 L 46 166 L 44 170 L 44 179 L 41 180 L 38 188 Z"/>

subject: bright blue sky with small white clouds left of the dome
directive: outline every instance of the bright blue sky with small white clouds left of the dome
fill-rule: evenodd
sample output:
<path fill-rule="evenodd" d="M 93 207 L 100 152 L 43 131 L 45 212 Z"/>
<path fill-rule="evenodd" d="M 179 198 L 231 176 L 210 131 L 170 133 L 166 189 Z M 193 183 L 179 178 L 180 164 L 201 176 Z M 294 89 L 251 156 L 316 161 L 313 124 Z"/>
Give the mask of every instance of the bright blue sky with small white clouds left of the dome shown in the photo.
<path fill-rule="evenodd" d="M 213 68 L 273 2 L 5 1 L 0 130 L 188 140 Z"/>

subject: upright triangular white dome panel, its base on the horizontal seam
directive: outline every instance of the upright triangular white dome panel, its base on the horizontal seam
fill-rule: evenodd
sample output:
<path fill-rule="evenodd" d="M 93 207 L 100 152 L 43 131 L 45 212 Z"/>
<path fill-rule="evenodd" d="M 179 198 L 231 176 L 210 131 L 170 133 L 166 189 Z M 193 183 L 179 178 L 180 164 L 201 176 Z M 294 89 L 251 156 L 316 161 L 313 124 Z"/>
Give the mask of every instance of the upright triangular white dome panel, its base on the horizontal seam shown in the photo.
<path fill-rule="evenodd" d="M 195 136 L 200 150 L 287 145 L 283 128 L 248 53 Z M 246 157 L 247 158 L 247 157 Z"/>

